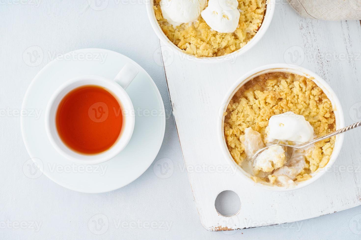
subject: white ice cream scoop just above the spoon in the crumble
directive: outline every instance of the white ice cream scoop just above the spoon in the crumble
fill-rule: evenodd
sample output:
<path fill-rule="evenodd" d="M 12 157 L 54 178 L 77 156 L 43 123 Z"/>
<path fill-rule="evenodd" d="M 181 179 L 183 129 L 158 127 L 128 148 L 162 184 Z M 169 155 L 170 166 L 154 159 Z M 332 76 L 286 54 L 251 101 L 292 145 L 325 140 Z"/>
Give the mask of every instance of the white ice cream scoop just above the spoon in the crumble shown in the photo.
<path fill-rule="evenodd" d="M 314 138 L 311 124 L 306 121 L 304 116 L 293 112 L 270 117 L 266 132 L 269 142 L 280 140 L 305 143 Z"/>

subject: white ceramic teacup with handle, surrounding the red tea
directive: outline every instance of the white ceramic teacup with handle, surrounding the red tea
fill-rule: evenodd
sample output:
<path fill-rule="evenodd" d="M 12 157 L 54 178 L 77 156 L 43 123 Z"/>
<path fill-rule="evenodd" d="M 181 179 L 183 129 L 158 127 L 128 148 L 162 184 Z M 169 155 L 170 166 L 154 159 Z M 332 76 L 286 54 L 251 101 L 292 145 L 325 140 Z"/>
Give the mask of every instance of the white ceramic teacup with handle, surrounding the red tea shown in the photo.
<path fill-rule="evenodd" d="M 130 141 L 134 130 L 134 108 L 125 89 L 129 86 L 138 72 L 138 68 L 131 63 L 127 63 L 114 80 L 90 75 L 72 78 L 61 85 L 51 96 L 45 111 L 45 129 L 53 147 L 65 158 L 78 164 L 99 164 L 106 162 L 119 154 Z M 56 128 L 56 112 L 60 101 L 71 90 L 84 85 L 104 87 L 117 98 L 123 110 L 123 126 L 117 141 L 108 150 L 99 154 L 81 154 L 71 150 L 60 139 Z M 91 117 L 91 115 L 89 117 Z M 96 119 L 94 119 L 94 121 L 96 121 Z"/>

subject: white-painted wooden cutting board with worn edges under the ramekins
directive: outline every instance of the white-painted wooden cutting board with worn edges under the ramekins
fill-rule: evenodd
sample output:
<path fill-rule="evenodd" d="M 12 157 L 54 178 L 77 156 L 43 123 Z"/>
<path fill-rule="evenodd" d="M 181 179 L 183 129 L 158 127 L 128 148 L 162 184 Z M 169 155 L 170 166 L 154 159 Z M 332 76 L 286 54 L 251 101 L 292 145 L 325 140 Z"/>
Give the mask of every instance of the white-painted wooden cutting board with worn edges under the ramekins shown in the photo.
<path fill-rule="evenodd" d="M 169 52 L 161 44 L 184 162 L 201 222 L 210 231 L 294 222 L 361 204 L 360 130 L 345 135 L 332 171 L 303 189 L 259 190 L 225 169 L 227 161 L 216 134 L 218 110 L 232 83 L 258 66 L 297 60 L 335 90 L 346 124 L 361 120 L 360 21 L 304 19 L 287 1 L 276 2 L 265 36 L 235 61 L 197 63 Z M 224 167 L 224 171 L 213 172 L 212 166 Z M 215 209 L 214 201 L 224 190 L 239 195 L 241 208 L 235 216 L 223 217 Z"/>

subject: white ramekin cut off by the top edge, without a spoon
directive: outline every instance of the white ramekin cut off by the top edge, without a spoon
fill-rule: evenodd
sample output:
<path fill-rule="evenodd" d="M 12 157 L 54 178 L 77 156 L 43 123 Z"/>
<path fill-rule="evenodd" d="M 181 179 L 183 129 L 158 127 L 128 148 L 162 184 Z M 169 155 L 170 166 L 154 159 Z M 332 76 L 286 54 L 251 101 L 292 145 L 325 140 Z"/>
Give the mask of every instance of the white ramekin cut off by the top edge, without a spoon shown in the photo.
<path fill-rule="evenodd" d="M 193 60 L 197 62 L 204 62 L 204 63 L 211 63 L 211 62 L 219 62 L 219 61 L 234 61 L 238 56 L 244 54 L 246 51 L 251 49 L 253 46 L 256 45 L 256 43 L 262 38 L 262 36 L 266 33 L 266 30 L 268 29 L 272 18 L 273 13 L 276 5 L 276 0 L 267 0 L 266 1 L 266 13 L 265 17 L 263 19 L 263 22 L 261 24 L 260 29 L 256 33 L 255 36 L 242 48 L 238 49 L 237 51 L 234 51 L 233 53 L 226 54 L 223 56 L 217 56 L 217 57 L 197 57 L 192 54 L 186 53 L 186 51 L 180 49 L 178 46 L 174 45 L 173 42 L 171 42 L 168 37 L 164 34 L 162 29 L 160 28 L 158 21 L 156 19 L 154 9 L 153 9 L 153 0 L 146 1 L 146 7 L 147 7 L 147 13 L 149 21 L 151 22 L 152 28 L 157 34 L 158 38 L 168 46 L 171 50 L 173 50 L 174 54 L 178 54 L 181 56 L 181 59 L 188 59 Z"/>

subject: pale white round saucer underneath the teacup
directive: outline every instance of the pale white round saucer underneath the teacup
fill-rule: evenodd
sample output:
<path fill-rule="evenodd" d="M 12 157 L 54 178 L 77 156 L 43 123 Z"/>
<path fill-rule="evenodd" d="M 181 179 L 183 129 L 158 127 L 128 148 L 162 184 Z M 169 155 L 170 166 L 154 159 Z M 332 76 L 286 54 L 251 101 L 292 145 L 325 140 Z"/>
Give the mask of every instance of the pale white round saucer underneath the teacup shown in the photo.
<path fill-rule="evenodd" d="M 104 193 L 123 187 L 147 170 L 161 147 L 165 131 L 161 95 L 148 73 L 120 53 L 81 49 L 65 56 L 69 57 L 47 64 L 35 76 L 25 94 L 22 109 L 42 111 L 39 119 L 34 117 L 35 114 L 21 117 L 25 147 L 44 175 L 68 189 Z M 91 60 L 85 60 L 84 56 Z M 115 158 L 103 164 L 79 166 L 65 159 L 52 147 L 45 132 L 44 113 L 51 94 L 74 77 L 99 75 L 113 79 L 127 62 L 139 69 L 139 74 L 126 89 L 135 109 L 134 133 L 129 144 Z"/>

